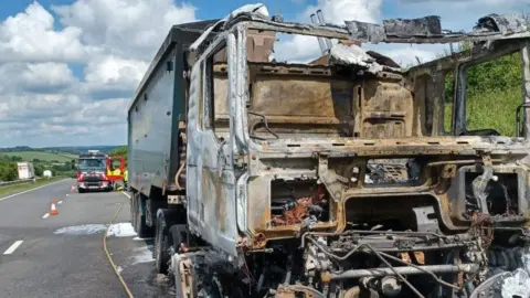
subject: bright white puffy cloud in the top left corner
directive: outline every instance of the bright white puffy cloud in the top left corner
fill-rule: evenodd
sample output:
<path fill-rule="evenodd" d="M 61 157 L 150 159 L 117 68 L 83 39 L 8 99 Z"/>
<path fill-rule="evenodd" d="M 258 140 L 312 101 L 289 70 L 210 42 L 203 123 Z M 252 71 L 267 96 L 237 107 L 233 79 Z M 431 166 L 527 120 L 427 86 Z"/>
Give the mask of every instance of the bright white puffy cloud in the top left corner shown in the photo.
<path fill-rule="evenodd" d="M 53 15 L 38 2 L 0 24 L 0 62 L 85 61 L 97 47 L 83 45 L 80 28 L 54 31 Z"/>

